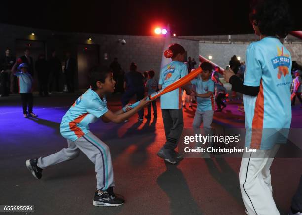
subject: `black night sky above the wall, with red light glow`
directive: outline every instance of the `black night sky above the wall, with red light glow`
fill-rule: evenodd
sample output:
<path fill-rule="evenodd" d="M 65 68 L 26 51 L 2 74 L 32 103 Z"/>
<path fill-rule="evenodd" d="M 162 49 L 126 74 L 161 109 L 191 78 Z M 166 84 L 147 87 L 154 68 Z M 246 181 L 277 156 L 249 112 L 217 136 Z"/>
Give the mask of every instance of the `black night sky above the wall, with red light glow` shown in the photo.
<path fill-rule="evenodd" d="M 289 0 L 302 30 L 302 0 Z M 248 0 L 3 1 L 0 22 L 66 32 L 153 35 L 170 23 L 179 36 L 253 33 Z"/>

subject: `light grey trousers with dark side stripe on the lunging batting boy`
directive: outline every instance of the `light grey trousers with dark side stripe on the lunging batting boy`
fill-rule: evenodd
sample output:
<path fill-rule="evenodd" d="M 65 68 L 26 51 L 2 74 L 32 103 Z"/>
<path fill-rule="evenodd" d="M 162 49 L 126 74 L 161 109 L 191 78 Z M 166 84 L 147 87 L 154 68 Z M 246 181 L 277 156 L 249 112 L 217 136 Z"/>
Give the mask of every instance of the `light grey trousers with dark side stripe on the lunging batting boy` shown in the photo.
<path fill-rule="evenodd" d="M 87 133 L 72 142 L 67 140 L 68 147 L 55 154 L 38 159 L 38 167 L 45 169 L 63 161 L 76 158 L 80 151 L 95 164 L 97 189 L 106 190 L 114 186 L 114 174 L 109 147 L 92 133 Z"/>

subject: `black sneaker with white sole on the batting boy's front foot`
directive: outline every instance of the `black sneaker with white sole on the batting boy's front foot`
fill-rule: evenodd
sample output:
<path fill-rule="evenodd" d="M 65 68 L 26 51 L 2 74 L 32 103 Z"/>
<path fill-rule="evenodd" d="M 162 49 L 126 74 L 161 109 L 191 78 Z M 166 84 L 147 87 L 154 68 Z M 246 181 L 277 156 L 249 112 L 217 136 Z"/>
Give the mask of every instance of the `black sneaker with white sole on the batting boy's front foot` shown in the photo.
<path fill-rule="evenodd" d="M 122 197 L 117 197 L 113 192 L 113 187 L 109 187 L 106 191 L 98 193 L 96 191 L 93 197 L 94 206 L 120 206 L 125 203 Z"/>

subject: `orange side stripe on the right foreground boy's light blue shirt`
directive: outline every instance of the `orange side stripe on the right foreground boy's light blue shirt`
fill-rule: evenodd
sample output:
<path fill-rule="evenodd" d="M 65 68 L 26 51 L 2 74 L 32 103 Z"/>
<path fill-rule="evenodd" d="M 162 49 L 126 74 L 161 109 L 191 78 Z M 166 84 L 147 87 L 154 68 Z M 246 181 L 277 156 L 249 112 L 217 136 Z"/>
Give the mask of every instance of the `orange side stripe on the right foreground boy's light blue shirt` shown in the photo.
<path fill-rule="evenodd" d="M 250 147 L 252 149 L 260 149 L 264 115 L 264 96 L 262 80 L 260 80 L 259 93 L 255 102 L 254 117 L 252 121 L 252 137 Z"/>

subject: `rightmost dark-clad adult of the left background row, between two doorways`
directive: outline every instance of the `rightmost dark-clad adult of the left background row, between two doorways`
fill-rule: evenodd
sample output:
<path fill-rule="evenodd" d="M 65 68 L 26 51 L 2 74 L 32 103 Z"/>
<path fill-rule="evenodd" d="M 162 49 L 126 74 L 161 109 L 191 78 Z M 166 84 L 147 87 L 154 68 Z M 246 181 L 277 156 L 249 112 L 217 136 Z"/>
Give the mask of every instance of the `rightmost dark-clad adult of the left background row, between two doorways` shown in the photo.
<path fill-rule="evenodd" d="M 75 72 L 76 72 L 76 61 L 71 57 L 70 52 L 67 52 L 64 75 L 65 75 L 65 81 L 69 93 L 75 92 Z"/>

